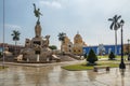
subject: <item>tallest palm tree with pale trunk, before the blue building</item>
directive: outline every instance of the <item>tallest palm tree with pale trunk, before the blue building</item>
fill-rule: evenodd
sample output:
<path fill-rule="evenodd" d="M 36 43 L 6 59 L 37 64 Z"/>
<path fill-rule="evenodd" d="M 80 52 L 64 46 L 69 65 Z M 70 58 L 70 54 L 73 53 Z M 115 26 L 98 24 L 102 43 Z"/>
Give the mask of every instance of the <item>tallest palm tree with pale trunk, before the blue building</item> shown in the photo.
<path fill-rule="evenodd" d="M 115 15 L 113 18 L 108 18 L 108 20 L 112 22 L 109 27 L 110 30 L 115 30 L 115 55 L 117 54 L 117 30 L 120 28 L 120 24 L 118 22 L 120 17 L 120 15 Z"/>

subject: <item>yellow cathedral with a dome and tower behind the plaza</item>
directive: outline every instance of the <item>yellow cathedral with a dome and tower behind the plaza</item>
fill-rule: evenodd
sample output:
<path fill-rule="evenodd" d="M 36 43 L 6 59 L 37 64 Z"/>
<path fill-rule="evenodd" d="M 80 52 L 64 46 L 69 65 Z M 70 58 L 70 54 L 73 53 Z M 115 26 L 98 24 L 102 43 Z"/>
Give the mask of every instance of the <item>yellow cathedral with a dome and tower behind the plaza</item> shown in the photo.
<path fill-rule="evenodd" d="M 82 55 L 82 47 L 84 46 L 87 46 L 87 44 L 82 41 L 79 32 L 77 32 L 77 34 L 74 37 L 74 43 L 70 42 L 67 35 L 64 38 L 64 41 L 61 45 L 61 51 L 64 54 Z"/>

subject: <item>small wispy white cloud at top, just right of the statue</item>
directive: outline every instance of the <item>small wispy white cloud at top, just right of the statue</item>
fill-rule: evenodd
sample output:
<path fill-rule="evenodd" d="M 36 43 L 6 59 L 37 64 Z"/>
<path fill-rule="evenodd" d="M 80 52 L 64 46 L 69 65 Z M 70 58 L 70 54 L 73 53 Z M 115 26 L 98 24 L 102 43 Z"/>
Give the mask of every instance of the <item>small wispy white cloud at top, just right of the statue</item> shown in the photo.
<path fill-rule="evenodd" d="M 50 8 L 55 8 L 55 9 L 61 9 L 62 4 L 57 1 L 40 1 L 39 2 L 41 5 L 47 5 Z"/>

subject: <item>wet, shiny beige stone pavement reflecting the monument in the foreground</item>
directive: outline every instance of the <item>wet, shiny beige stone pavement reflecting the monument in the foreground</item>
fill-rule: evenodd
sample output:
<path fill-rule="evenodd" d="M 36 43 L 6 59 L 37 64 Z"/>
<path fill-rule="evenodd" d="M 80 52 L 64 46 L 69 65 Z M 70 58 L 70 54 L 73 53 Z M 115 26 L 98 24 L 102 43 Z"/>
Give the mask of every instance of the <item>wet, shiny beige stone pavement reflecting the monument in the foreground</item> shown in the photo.
<path fill-rule="evenodd" d="M 112 68 L 109 72 L 61 69 L 66 63 L 69 62 L 40 67 L 8 63 L 8 69 L 0 70 L 0 86 L 130 86 L 130 66 L 122 76 L 118 68 Z"/>

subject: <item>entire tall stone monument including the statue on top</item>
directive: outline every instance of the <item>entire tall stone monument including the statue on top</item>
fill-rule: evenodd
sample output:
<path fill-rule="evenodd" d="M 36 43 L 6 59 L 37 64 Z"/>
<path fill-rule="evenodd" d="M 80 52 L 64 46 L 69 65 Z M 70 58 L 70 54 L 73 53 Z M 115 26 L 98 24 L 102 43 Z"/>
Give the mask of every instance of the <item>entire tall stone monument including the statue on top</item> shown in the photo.
<path fill-rule="evenodd" d="M 41 26 L 40 26 L 40 9 L 36 9 L 36 4 L 34 3 L 34 13 L 38 18 L 35 26 L 35 38 L 26 39 L 25 48 L 22 51 L 23 61 L 26 62 L 49 62 L 52 59 L 60 60 L 58 58 L 54 58 L 52 51 L 49 48 L 49 39 L 50 35 L 41 37 Z"/>

